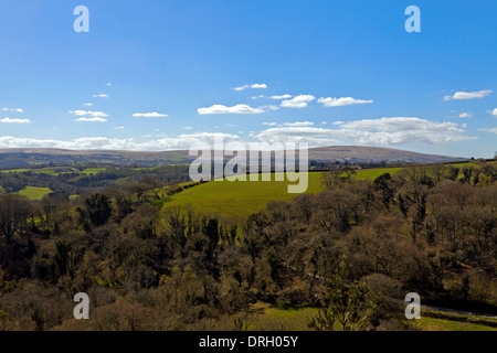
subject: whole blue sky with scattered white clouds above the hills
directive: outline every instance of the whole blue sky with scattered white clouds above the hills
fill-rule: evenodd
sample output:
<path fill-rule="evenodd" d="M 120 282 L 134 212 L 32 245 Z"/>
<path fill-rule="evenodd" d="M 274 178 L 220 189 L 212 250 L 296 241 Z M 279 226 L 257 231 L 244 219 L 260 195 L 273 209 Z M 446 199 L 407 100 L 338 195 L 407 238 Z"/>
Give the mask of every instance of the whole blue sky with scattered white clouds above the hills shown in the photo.
<path fill-rule="evenodd" d="M 89 32 L 76 33 L 77 6 Z M 421 32 L 408 33 L 408 6 Z M 0 2 L 0 148 L 497 151 L 495 1 Z M 235 89 L 237 88 L 237 89 Z"/>

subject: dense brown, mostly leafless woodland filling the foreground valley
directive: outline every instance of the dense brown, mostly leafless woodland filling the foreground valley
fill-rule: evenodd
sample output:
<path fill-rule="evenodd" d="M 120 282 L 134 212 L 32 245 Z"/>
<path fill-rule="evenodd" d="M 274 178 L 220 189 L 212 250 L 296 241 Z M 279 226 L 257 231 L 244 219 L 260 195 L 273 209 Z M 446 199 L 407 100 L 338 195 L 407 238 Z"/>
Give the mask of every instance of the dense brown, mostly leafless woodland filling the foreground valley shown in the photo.
<path fill-rule="evenodd" d="M 497 313 L 496 180 L 490 163 L 336 169 L 242 224 L 155 203 L 158 175 L 75 200 L 4 194 L 0 330 L 244 330 L 257 302 L 320 309 L 309 330 L 409 330 L 408 292 Z M 76 292 L 91 320 L 73 319 Z"/>

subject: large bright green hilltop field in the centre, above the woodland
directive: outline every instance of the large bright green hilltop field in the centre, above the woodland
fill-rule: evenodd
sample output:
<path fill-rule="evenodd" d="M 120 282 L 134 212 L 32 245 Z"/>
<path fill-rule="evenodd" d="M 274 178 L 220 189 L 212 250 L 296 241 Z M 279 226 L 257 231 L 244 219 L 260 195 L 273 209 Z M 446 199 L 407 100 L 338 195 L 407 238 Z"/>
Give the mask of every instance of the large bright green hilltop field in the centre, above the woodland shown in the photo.
<path fill-rule="evenodd" d="M 401 168 L 364 169 L 357 172 L 357 179 L 374 179 L 383 173 L 395 173 Z M 321 172 L 310 172 L 306 193 L 317 193 L 322 190 Z M 200 184 L 175 194 L 165 207 L 191 204 L 200 212 L 219 213 L 226 216 L 245 217 L 264 210 L 271 201 L 290 201 L 298 194 L 289 194 L 288 181 L 212 181 Z"/>

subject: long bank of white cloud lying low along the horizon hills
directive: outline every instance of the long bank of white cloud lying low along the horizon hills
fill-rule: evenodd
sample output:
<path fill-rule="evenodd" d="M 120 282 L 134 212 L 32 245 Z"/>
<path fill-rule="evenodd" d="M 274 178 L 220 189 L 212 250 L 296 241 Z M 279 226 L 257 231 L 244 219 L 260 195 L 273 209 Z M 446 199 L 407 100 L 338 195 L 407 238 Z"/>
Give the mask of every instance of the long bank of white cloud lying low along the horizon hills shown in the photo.
<path fill-rule="evenodd" d="M 99 118 L 82 118 L 99 119 Z M 86 121 L 86 120 L 82 120 Z M 91 121 L 91 120 L 87 120 Z M 97 121 L 97 120 L 92 120 Z M 313 127 L 311 121 L 263 122 L 269 128 L 262 131 L 253 131 L 252 140 L 242 141 L 237 135 L 220 133 L 224 142 L 251 141 L 274 142 L 308 142 L 309 146 L 331 146 L 353 143 L 357 146 L 400 146 L 405 143 L 443 145 L 457 141 L 469 141 L 476 137 L 465 136 L 465 125 L 451 121 L 431 121 L 415 117 L 391 117 L 379 119 L 362 119 L 348 122 L 337 121 L 336 128 Z M 494 129 L 480 129 L 494 132 Z M 171 149 L 189 149 L 193 143 L 213 143 L 213 132 L 182 133 L 177 137 L 157 136 L 156 139 L 137 141 L 134 138 L 106 138 L 84 137 L 67 141 L 53 139 L 15 138 L 11 136 L 0 137 L 2 148 L 64 148 L 64 149 L 114 149 L 114 150 L 138 150 L 158 151 Z"/>

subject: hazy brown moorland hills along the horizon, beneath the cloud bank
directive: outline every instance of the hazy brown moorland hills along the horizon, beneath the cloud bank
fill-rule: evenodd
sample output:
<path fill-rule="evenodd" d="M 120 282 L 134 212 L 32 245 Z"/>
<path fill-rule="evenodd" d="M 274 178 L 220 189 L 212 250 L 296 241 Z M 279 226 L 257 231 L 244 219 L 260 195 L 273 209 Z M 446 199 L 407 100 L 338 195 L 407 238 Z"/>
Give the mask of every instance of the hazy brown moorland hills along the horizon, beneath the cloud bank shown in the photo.
<path fill-rule="evenodd" d="M 188 150 L 162 152 L 63 149 L 0 149 L 0 168 L 28 168 L 36 164 L 108 163 L 118 165 L 159 165 L 190 163 Z M 390 148 L 330 146 L 309 149 L 309 160 L 349 162 L 435 163 L 463 158 L 416 153 Z"/>

